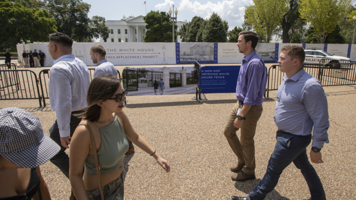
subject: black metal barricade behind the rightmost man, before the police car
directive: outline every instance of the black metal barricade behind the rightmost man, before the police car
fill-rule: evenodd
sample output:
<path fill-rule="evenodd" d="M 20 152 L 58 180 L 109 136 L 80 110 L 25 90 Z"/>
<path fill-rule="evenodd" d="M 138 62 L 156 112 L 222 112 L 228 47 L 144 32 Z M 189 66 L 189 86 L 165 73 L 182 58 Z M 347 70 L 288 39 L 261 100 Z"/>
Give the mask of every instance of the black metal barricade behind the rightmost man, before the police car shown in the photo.
<path fill-rule="evenodd" d="M 323 59 L 319 64 L 304 64 L 303 68 L 322 86 L 356 85 L 356 62 L 354 61 Z M 284 73 L 279 71 L 277 64 L 270 67 L 265 97 L 269 97 L 270 91 L 278 89 L 283 76 Z"/>

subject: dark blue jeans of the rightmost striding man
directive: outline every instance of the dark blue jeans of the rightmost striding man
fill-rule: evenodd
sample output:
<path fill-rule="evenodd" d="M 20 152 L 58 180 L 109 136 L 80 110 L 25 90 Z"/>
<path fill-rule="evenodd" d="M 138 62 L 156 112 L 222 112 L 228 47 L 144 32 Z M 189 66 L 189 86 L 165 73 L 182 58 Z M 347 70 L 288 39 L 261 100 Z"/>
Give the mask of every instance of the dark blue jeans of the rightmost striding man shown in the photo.
<path fill-rule="evenodd" d="M 319 176 L 307 156 L 306 148 L 311 142 L 311 134 L 296 136 L 277 131 L 276 138 L 277 143 L 268 162 L 266 174 L 259 184 L 253 188 L 247 199 L 263 199 L 276 187 L 280 175 L 291 162 L 301 170 L 307 181 L 311 199 L 326 199 Z"/>

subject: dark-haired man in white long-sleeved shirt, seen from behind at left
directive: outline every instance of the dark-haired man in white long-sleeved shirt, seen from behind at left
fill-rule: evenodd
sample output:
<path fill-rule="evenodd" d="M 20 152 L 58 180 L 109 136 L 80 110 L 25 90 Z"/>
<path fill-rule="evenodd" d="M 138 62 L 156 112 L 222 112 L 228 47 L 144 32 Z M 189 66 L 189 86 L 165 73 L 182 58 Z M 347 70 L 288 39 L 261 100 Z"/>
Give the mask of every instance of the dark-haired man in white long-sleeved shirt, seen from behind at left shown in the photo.
<path fill-rule="evenodd" d="M 72 54 L 73 40 L 62 32 L 49 35 L 48 51 L 53 58 L 49 71 L 49 102 L 56 120 L 49 129 L 50 137 L 61 146 L 50 161 L 69 177 L 69 157 L 65 153 L 81 113 L 87 106 L 86 94 L 90 85 L 87 66 Z"/>

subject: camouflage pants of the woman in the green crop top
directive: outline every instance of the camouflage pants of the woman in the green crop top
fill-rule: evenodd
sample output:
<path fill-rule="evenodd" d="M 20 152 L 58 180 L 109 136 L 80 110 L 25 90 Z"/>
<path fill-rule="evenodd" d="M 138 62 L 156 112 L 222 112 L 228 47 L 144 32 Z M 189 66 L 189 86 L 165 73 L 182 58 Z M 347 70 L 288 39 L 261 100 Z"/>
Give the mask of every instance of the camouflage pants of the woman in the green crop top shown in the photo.
<path fill-rule="evenodd" d="M 101 187 L 103 189 L 105 200 L 123 200 L 124 199 L 124 176 L 111 181 L 109 184 Z M 88 199 L 101 200 L 100 189 L 85 190 Z"/>

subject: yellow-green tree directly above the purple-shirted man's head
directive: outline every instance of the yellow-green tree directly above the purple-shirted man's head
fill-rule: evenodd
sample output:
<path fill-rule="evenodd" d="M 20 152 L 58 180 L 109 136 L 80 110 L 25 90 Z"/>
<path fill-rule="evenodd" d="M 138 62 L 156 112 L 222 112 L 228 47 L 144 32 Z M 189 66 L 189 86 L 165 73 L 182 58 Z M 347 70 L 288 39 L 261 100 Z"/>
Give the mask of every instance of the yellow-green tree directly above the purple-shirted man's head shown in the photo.
<path fill-rule="evenodd" d="M 288 0 L 253 0 L 245 6 L 245 26 L 251 26 L 262 42 L 269 43 L 288 11 Z"/>

